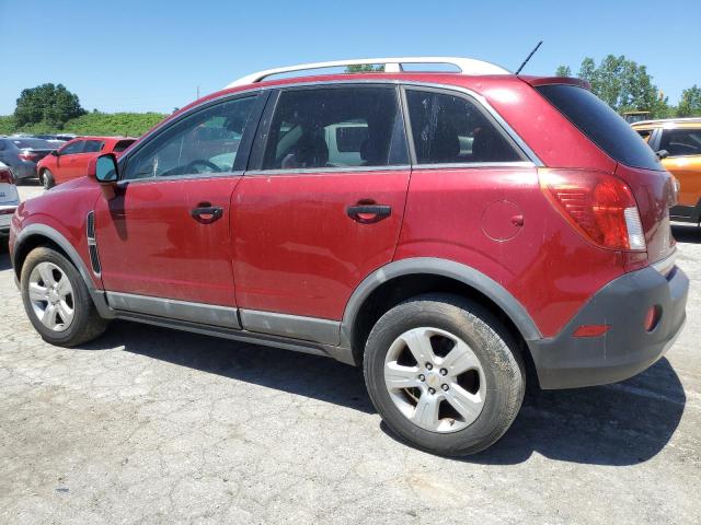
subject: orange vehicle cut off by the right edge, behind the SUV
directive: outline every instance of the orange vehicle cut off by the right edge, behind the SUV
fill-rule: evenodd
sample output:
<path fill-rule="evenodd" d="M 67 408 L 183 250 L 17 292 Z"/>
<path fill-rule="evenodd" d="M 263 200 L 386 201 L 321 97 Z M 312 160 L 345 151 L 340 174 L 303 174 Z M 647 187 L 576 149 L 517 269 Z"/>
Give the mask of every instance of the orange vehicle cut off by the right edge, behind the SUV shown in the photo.
<path fill-rule="evenodd" d="M 643 120 L 631 125 L 657 152 L 662 163 L 679 182 L 677 206 L 670 219 L 701 222 L 701 118 Z"/>

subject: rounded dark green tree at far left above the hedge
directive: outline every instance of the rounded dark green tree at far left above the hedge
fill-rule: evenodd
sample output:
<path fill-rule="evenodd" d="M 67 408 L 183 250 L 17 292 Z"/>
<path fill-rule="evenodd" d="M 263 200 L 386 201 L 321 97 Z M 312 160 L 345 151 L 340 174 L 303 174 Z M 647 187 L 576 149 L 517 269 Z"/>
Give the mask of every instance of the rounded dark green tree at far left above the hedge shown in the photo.
<path fill-rule="evenodd" d="M 71 118 L 84 114 L 78 95 L 62 84 L 49 83 L 22 91 L 14 109 L 14 120 L 16 126 L 44 122 L 48 127 L 60 129 Z"/>

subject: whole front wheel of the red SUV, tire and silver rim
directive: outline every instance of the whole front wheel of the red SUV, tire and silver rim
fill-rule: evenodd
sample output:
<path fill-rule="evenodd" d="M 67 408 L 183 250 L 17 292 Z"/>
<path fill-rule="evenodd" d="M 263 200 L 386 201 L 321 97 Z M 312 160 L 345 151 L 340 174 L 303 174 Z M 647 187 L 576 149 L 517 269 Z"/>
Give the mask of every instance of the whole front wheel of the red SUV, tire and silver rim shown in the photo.
<path fill-rule="evenodd" d="M 21 288 L 26 315 L 51 345 L 81 345 L 107 327 L 76 267 L 51 248 L 38 247 L 27 255 Z"/>

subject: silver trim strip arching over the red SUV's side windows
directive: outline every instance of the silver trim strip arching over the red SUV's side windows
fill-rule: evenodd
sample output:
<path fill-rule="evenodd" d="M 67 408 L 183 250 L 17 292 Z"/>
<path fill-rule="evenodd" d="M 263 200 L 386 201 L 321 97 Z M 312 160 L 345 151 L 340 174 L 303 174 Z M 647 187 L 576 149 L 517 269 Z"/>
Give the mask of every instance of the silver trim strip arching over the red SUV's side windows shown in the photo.
<path fill-rule="evenodd" d="M 482 108 L 484 110 L 486 110 L 490 116 L 492 118 L 494 118 L 494 120 L 496 120 L 496 122 L 502 127 L 502 129 L 504 130 L 504 132 L 518 145 L 518 148 L 520 148 L 520 150 L 526 154 L 526 156 L 530 160 L 530 162 L 537 166 L 537 167 L 544 167 L 545 164 L 538 158 L 538 155 L 536 154 L 536 152 L 533 152 L 533 150 L 530 149 L 530 147 L 524 141 L 524 139 L 520 138 L 520 136 L 508 125 L 508 122 L 496 112 L 496 109 L 494 109 L 494 107 L 492 107 L 492 105 L 486 101 L 486 98 L 484 96 L 482 96 L 481 94 L 469 90 L 467 88 L 462 88 L 459 85 L 455 85 L 455 84 L 441 84 L 441 83 L 436 83 L 436 82 L 418 82 L 418 81 L 412 81 L 412 80 L 401 80 L 401 79 L 344 79 L 344 80 L 320 80 L 320 81 L 306 81 L 306 82 L 292 82 L 289 84 L 274 84 L 274 85 L 252 85 L 248 89 L 243 89 L 240 91 L 235 91 L 233 93 L 223 93 L 217 97 L 214 98 L 208 98 L 206 101 L 203 101 L 202 103 L 198 103 L 196 105 L 194 105 L 193 107 L 191 107 L 186 113 L 183 113 L 182 115 L 179 115 L 179 118 L 172 120 L 172 121 L 166 121 L 163 122 L 163 125 L 159 125 L 157 128 L 152 129 L 151 131 L 149 131 L 148 133 L 146 133 L 143 137 L 141 137 L 141 139 L 139 140 L 139 142 L 145 143 L 152 135 L 161 131 L 163 129 L 163 126 L 171 126 L 172 124 L 177 122 L 181 118 L 186 118 L 187 116 L 189 116 L 191 114 L 197 112 L 198 109 L 200 109 L 202 107 L 209 105 L 209 104 L 215 104 L 217 102 L 223 101 L 226 98 L 233 98 L 240 95 L 250 95 L 252 93 L 255 92 L 264 92 L 264 91 L 275 91 L 275 90 L 285 90 L 285 89 L 289 89 L 289 88 L 309 88 L 309 86 L 326 86 L 326 85 L 360 85 L 360 84 L 376 84 L 376 85 L 399 85 L 399 86 L 403 86 L 403 88 L 433 88 L 433 89 L 437 89 L 437 90 L 444 90 L 444 91 L 455 91 L 457 93 L 462 93 L 464 95 L 468 95 L 470 97 L 472 97 L 478 104 L 480 104 L 480 106 L 482 106 Z M 406 108 L 401 105 L 401 110 L 403 113 L 405 113 Z M 405 119 L 405 129 L 406 128 L 406 116 L 404 117 Z M 409 137 L 409 132 L 406 132 L 407 135 L 407 140 L 411 139 L 411 137 Z M 135 150 L 138 151 L 141 148 L 141 145 L 138 145 L 138 149 Z M 410 148 L 412 148 L 412 144 L 410 143 Z M 410 150 L 411 153 L 411 150 Z M 131 156 L 131 152 L 129 152 L 129 155 L 127 155 L 125 159 L 125 161 L 127 160 L 128 156 Z M 366 166 L 360 166 L 360 167 L 366 167 Z M 382 166 L 382 167 L 389 167 L 389 166 Z M 355 170 L 355 168 L 354 168 Z M 271 173 L 271 171 L 265 172 L 265 173 Z M 251 173 L 251 172 L 246 172 L 246 173 Z M 296 172 L 299 173 L 299 172 Z"/>

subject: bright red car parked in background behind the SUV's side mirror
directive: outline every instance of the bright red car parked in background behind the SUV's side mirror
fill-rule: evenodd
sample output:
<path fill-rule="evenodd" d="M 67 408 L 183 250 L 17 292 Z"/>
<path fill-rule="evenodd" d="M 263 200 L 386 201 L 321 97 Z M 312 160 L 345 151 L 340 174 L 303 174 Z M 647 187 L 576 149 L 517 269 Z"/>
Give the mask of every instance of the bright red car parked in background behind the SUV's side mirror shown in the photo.
<path fill-rule="evenodd" d="M 130 137 L 80 137 L 70 140 L 39 162 L 39 182 L 49 189 L 82 177 L 88 173 L 88 163 L 92 159 L 103 153 L 120 154 L 135 141 Z"/>

